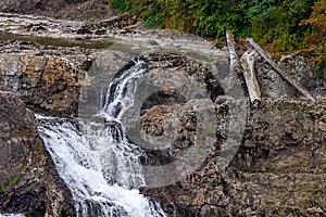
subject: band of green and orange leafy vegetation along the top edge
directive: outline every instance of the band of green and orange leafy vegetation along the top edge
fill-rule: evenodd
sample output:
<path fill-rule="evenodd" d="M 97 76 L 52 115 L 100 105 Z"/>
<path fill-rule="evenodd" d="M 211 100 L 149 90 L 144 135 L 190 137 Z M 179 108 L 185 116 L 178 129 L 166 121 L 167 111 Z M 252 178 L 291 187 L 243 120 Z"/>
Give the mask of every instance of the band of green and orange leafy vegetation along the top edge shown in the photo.
<path fill-rule="evenodd" d="M 325 62 L 325 0 L 112 0 L 110 7 L 136 14 L 148 27 L 217 40 L 231 30 L 277 51 L 315 46 Z"/>

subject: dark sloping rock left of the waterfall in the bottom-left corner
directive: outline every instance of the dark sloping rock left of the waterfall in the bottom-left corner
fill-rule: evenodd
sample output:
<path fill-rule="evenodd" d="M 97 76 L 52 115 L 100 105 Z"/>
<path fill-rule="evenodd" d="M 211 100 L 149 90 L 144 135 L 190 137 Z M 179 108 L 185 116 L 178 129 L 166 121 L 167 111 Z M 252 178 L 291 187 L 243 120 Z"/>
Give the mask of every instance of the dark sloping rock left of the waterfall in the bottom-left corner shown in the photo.
<path fill-rule="evenodd" d="M 4 91 L 0 128 L 0 213 L 73 216 L 72 195 L 45 150 L 34 113 Z"/>

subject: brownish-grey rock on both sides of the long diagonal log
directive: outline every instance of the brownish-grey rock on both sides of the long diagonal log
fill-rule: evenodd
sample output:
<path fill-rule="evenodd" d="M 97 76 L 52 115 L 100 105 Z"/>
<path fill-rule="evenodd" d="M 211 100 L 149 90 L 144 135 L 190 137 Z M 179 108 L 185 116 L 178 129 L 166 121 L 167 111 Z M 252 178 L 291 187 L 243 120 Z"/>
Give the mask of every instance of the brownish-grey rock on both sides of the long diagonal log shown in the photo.
<path fill-rule="evenodd" d="M 292 53 L 283 55 L 277 64 L 294 80 L 308 89 L 317 100 L 326 93 L 325 75 L 317 78 L 316 64 L 313 54 Z M 294 87 L 290 86 L 265 60 L 259 58 L 255 62 L 258 81 L 263 98 L 272 99 L 304 99 Z"/>

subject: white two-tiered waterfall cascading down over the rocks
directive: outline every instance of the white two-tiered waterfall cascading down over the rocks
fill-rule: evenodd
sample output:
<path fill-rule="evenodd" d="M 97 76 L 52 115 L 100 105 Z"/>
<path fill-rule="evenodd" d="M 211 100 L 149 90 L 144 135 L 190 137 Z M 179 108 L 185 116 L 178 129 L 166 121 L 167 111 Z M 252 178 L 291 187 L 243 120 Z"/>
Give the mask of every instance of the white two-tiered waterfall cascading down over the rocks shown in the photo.
<path fill-rule="evenodd" d="M 37 115 L 38 130 L 73 193 L 77 216 L 165 216 L 159 204 L 138 191 L 145 183 L 139 162 L 143 153 L 128 142 L 121 123 L 133 106 L 135 80 L 146 72 L 146 63 L 136 60 L 110 84 L 97 115 L 104 122 Z"/>

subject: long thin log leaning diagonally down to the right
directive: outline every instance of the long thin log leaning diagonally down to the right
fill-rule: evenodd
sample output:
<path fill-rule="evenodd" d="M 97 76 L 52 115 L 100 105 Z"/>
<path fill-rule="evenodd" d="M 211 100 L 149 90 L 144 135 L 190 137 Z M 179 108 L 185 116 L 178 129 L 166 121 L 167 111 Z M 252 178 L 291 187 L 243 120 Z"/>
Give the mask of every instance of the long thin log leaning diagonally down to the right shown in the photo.
<path fill-rule="evenodd" d="M 268 54 L 253 41 L 252 38 L 247 38 L 247 42 L 263 58 L 265 61 L 290 85 L 292 85 L 297 90 L 299 90 L 302 94 L 309 98 L 311 101 L 316 102 L 316 99 L 297 80 L 294 80 L 288 73 L 283 71 L 269 56 Z"/>

